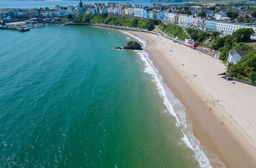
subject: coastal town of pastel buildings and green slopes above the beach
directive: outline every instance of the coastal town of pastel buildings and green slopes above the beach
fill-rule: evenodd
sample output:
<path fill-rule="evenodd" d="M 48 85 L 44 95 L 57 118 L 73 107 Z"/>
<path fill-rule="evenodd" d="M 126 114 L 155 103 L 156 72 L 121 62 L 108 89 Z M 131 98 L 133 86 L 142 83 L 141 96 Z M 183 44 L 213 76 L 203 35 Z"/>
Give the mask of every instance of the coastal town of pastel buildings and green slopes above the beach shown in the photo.
<path fill-rule="evenodd" d="M 256 3 L 252 1 L 208 6 L 195 3 L 168 6 L 154 4 L 147 7 L 113 2 L 83 5 L 80 0 L 78 4 L 67 7 L 56 5 L 54 8 L 0 9 L 0 19 L 0 29 L 20 32 L 47 24 L 89 24 L 160 33 L 161 36 L 222 60 L 227 67 L 238 64 L 246 53 L 255 50 L 256 45 Z M 139 20 L 141 23 L 138 23 Z M 233 34 L 241 37 L 235 38 Z M 228 46 L 225 45 L 226 40 Z M 248 40 L 251 44 L 236 43 Z M 254 83 L 254 73 L 250 77 L 248 74 L 241 77 L 240 72 L 231 77 Z M 232 80 L 230 76 L 225 78 Z"/>

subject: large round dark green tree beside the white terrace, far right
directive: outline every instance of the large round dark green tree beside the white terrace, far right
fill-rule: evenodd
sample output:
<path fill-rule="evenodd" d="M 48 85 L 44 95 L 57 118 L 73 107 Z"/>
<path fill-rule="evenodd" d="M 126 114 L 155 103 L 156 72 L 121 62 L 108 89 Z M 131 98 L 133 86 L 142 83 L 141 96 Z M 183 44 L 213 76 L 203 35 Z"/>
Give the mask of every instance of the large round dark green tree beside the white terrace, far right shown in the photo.
<path fill-rule="evenodd" d="M 250 40 L 250 37 L 254 34 L 252 28 L 242 28 L 232 33 L 232 36 L 236 39 L 237 42 L 245 42 Z"/>

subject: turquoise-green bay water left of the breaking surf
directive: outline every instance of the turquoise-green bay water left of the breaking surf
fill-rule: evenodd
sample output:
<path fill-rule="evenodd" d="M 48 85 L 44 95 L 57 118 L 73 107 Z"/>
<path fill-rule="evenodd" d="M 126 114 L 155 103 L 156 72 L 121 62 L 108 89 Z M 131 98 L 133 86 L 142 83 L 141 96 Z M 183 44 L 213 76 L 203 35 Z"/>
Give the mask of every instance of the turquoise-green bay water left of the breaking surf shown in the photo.
<path fill-rule="evenodd" d="M 127 40 L 1 30 L 0 167 L 198 167 L 141 55 L 112 49 Z"/>

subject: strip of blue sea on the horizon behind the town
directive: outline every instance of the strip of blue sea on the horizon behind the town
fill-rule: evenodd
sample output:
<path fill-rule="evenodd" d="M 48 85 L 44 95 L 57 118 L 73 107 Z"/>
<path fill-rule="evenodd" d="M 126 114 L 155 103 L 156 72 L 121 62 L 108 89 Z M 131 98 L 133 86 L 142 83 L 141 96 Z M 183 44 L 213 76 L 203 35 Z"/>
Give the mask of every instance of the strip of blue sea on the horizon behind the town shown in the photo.
<path fill-rule="evenodd" d="M 94 3 L 129 3 L 135 5 L 143 5 L 152 7 L 153 4 L 162 4 L 162 5 L 173 5 L 173 4 L 185 4 L 185 3 L 156 3 L 150 1 L 143 0 L 135 0 L 135 1 L 82 1 L 83 4 L 94 4 Z M 79 4 L 79 1 L 11 1 L 11 0 L 0 0 L 0 9 L 3 8 L 44 8 L 49 7 L 53 8 L 55 5 L 60 6 L 75 6 Z"/>

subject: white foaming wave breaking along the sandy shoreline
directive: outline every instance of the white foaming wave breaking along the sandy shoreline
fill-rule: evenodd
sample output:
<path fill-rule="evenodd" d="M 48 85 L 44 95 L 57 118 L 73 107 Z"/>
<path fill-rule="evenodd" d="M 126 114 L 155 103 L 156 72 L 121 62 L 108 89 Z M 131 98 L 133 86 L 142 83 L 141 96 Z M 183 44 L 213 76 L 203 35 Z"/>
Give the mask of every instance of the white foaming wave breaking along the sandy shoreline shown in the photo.
<path fill-rule="evenodd" d="M 143 47 L 146 47 L 147 43 L 144 40 L 126 32 L 123 32 L 123 34 L 129 35 L 130 37 L 137 39 Z M 218 163 L 217 167 L 225 167 L 224 164 L 218 159 L 218 157 L 214 153 L 207 151 L 205 147 L 203 147 L 198 139 L 195 137 L 192 124 L 186 120 L 186 109 L 184 105 L 180 102 L 179 99 L 174 96 L 173 92 L 170 91 L 170 89 L 163 82 L 162 76 L 158 72 L 157 68 L 153 65 L 153 62 L 148 57 L 147 52 L 142 50 L 137 51 L 137 53 L 140 55 L 141 60 L 144 62 L 144 72 L 152 75 L 152 81 L 156 83 L 158 93 L 160 97 L 163 98 L 163 102 L 167 108 L 168 113 L 176 118 L 176 126 L 180 127 L 183 133 L 183 142 L 187 145 L 188 148 L 195 152 L 195 157 L 199 162 L 199 166 L 212 167 L 210 164 L 211 162 L 214 165 Z M 210 160 L 206 156 L 206 151 L 207 156 L 210 156 Z"/>

